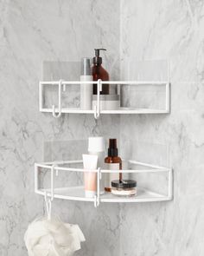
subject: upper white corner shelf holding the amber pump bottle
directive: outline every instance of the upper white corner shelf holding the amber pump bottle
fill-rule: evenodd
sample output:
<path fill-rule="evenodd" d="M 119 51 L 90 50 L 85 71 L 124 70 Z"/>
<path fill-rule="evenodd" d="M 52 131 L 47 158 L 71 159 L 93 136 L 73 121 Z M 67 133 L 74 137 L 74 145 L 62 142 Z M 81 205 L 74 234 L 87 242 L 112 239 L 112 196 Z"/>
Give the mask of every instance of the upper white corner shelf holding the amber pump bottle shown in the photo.
<path fill-rule="evenodd" d="M 66 91 L 67 86 L 80 84 L 95 83 L 98 85 L 98 97 L 97 106 L 91 110 L 85 110 L 81 108 L 63 108 L 62 107 L 62 93 Z M 163 108 L 118 108 L 115 110 L 101 110 L 99 91 L 103 84 L 110 85 L 156 85 L 165 87 L 165 104 Z M 44 87 L 45 86 L 57 86 L 58 87 L 58 106 L 52 106 L 47 108 L 44 106 Z M 170 109 L 170 85 L 169 81 L 98 81 L 98 82 L 80 82 L 80 81 L 44 81 L 39 83 L 39 108 L 41 112 L 52 113 L 54 117 L 60 117 L 62 113 L 70 114 L 93 114 L 96 119 L 100 114 L 168 114 Z"/>

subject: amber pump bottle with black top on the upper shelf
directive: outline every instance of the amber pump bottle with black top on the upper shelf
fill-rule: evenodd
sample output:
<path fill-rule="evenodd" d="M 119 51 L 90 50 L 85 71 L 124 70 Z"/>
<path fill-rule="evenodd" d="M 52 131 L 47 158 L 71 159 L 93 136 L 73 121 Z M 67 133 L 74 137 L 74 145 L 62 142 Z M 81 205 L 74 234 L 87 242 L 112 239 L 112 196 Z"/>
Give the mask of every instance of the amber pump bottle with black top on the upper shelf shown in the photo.
<path fill-rule="evenodd" d="M 100 50 L 106 50 L 103 48 L 95 49 L 95 56 L 92 58 L 92 80 L 109 81 L 108 72 L 102 67 L 102 57 L 100 56 Z M 92 94 L 97 95 L 97 84 L 93 84 Z M 102 91 L 100 95 L 109 95 L 109 84 L 102 85 Z"/>

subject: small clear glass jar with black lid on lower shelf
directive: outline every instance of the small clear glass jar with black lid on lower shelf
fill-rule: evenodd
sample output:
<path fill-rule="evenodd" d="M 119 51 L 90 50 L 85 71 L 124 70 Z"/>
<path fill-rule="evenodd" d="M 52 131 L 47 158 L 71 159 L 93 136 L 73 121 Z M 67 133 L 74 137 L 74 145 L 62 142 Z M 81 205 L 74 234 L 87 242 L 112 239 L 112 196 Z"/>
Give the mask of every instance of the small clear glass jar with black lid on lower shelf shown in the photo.
<path fill-rule="evenodd" d="M 137 194 L 137 181 L 117 180 L 112 181 L 112 194 L 131 196 Z"/>

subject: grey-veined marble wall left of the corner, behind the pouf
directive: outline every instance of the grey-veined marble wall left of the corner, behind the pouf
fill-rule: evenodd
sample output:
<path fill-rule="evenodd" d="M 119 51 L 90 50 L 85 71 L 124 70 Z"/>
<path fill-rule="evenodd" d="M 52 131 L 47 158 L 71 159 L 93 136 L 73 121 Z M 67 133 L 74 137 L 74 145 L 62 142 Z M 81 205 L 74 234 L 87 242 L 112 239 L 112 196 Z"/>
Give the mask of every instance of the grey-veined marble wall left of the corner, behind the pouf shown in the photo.
<path fill-rule="evenodd" d="M 118 116 L 104 116 L 97 124 L 92 115 L 56 120 L 38 109 L 42 62 L 80 61 L 103 46 L 111 69 L 119 52 L 118 13 L 114 0 L 0 1 L 1 256 L 28 255 L 23 234 L 43 213 L 43 200 L 34 194 L 34 163 L 43 161 L 44 144 L 118 135 Z M 118 206 L 96 211 L 92 204 L 59 200 L 54 213 L 80 224 L 87 240 L 80 255 L 118 252 Z"/>

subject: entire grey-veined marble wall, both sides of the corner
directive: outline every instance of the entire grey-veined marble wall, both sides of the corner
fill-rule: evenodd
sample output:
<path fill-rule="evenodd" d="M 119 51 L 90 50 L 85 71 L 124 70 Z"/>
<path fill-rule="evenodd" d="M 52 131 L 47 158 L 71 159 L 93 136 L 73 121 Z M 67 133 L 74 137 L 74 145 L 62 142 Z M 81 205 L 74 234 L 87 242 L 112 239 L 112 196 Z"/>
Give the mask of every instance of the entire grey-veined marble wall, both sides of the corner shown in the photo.
<path fill-rule="evenodd" d="M 86 235 L 77 254 L 202 255 L 203 1 L 4 0 L 0 14 L 0 255 L 27 255 L 23 233 L 43 213 L 34 194 L 34 162 L 47 159 L 54 143 L 63 148 L 89 135 L 120 135 L 121 146 L 131 135 L 143 151 L 149 145 L 163 153 L 175 170 L 175 199 L 98 209 L 55 200 L 54 213 L 80 224 Z M 118 52 L 122 62 L 129 56 L 169 60 L 171 114 L 107 115 L 96 123 L 92 115 L 55 120 L 39 113 L 41 63 L 78 61 L 101 46 L 108 49 L 112 78 L 118 78 Z"/>

